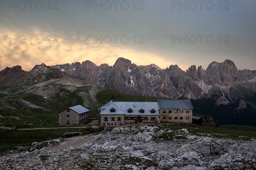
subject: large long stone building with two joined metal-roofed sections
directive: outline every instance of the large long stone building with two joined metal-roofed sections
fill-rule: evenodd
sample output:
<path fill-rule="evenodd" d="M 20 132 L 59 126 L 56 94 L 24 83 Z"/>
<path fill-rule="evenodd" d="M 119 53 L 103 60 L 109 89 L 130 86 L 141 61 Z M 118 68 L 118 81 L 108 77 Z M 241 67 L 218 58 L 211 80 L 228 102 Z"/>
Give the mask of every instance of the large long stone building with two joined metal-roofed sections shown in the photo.
<path fill-rule="evenodd" d="M 99 124 L 169 122 L 192 124 L 193 106 L 189 100 L 157 100 L 156 102 L 113 102 L 102 106 Z"/>

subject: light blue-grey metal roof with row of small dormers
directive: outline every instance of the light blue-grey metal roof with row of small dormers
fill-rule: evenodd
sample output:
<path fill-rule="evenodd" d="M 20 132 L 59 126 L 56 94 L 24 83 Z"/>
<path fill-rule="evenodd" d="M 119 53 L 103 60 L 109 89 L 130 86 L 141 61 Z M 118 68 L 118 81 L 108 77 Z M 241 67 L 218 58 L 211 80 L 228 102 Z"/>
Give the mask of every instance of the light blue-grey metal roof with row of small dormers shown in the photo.
<path fill-rule="evenodd" d="M 110 109 L 116 109 L 115 112 L 111 112 Z M 128 109 L 132 109 L 131 113 L 128 113 Z M 140 109 L 144 110 L 144 113 L 140 113 Z M 155 109 L 155 113 L 151 113 L 151 109 Z M 101 115 L 158 115 L 158 104 L 157 102 L 127 102 L 127 101 L 114 101 L 110 104 L 101 107 Z"/>

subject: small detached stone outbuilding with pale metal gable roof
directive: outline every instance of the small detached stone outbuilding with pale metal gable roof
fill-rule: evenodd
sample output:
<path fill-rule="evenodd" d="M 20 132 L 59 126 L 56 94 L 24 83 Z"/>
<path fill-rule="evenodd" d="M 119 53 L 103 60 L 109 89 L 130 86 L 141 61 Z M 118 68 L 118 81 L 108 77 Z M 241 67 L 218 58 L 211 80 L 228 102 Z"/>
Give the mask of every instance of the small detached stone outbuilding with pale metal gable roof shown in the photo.
<path fill-rule="evenodd" d="M 73 106 L 59 112 L 59 124 L 82 124 L 89 121 L 90 110 L 81 106 Z"/>

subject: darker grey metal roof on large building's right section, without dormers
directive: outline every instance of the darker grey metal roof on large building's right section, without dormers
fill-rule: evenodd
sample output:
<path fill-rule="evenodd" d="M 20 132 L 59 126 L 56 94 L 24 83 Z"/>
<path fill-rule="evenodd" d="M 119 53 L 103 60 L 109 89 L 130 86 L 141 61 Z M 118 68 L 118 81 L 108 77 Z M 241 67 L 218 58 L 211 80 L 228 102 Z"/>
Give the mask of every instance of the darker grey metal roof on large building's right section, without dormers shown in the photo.
<path fill-rule="evenodd" d="M 159 109 L 194 109 L 190 100 L 157 99 Z"/>

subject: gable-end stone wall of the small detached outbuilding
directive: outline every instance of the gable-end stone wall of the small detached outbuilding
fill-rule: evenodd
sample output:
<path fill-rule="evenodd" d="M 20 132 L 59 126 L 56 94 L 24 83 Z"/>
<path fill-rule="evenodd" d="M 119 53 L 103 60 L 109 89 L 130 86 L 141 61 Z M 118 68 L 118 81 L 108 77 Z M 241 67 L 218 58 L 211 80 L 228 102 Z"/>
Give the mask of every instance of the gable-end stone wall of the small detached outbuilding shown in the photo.
<path fill-rule="evenodd" d="M 59 124 L 65 125 L 67 121 L 69 121 L 69 124 L 79 124 L 79 114 L 71 109 L 65 109 L 59 112 Z"/>

